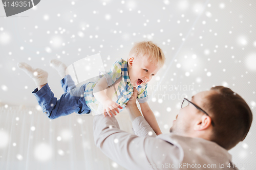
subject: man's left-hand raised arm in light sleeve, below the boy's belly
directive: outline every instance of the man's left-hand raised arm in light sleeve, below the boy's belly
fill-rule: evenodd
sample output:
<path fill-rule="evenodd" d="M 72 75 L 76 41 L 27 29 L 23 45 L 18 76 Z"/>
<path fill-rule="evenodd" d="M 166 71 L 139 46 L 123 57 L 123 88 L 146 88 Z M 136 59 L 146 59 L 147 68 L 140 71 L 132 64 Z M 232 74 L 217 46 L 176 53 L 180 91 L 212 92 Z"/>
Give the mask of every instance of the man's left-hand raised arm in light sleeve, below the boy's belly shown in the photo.
<path fill-rule="evenodd" d="M 154 137 L 143 138 L 119 129 L 115 117 L 94 116 L 94 141 L 110 159 L 127 169 L 149 169 L 147 150 L 155 147 Z"/>

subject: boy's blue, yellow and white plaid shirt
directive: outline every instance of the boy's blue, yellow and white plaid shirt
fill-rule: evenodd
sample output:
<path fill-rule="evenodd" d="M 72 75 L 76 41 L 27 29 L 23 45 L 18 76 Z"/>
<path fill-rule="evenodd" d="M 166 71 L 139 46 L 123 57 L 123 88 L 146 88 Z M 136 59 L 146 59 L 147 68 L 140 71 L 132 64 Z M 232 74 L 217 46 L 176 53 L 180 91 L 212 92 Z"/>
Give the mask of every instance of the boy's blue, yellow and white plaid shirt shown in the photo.
<path fill-rule="evenodd" d="M 87 85 L 86 90 L 84 91 L 84 98 L 93 112 L 98 113 L 99 111 L 102 111 L 98 110 L 100 103 L 93 95 L 93 88 L 103 76 L 105 76 L 108 86 L 113 85 L 122 76 L 122 80 L 120 81 L 112 100 L 122 106 L 123 109 L 125 108 L 127 102 L 133 95 L 134 88 L 128 75 L 127 66 L 127 61 L 120 59 L 111 66 L 111 69 L 106 72 L 106 74 L 100 75 L 95 82 L 91 82 Z M 146 88 L 147 84 L 141 84 L 137 87 L 137 99 L 139 103 L 145 103 L 148 100 Z"/>

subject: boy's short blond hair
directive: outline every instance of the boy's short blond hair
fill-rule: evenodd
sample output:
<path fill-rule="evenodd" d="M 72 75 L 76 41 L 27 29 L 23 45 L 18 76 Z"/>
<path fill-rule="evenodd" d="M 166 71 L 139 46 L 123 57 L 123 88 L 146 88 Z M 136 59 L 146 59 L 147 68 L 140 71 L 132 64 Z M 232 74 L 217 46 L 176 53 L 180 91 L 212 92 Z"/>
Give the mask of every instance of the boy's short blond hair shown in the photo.
<path fill-rule="evenodd" d="M 136 59 L 142 56 L 147 57 L 148 61 L 153 62 L 154 64 L 158 64 L 160 67 L 162 67 L 165 62 L 163 51 L 152 41 L 142 41 L 135 43 L 129 53 L 128 59 L 131 57 Z"/>

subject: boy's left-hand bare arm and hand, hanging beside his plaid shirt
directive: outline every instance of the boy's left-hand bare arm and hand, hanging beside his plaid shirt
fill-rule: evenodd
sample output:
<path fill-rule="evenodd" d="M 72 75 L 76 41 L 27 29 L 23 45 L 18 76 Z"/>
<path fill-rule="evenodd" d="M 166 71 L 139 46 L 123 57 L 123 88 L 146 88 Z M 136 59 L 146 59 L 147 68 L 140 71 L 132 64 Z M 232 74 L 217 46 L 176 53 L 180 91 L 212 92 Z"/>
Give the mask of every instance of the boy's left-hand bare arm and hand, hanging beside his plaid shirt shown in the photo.
<path fill-rule="evenodd" d="M 120 81 L 116 81 L 114 85 L 116 85 Z M 114 87 L 109 87 L 108 82 L 105 77 L 102 77 L 100 81 L 95 85 L 93 89 L 93 95 L 103 105 L 104 113 L 108 113 L 112 116 L 111 112 L 116 115 L 116 112 L 119 113 L 117 108 L 122 108 L 120 105 L 111 100 L 113 93 L 115 92 Z"/>

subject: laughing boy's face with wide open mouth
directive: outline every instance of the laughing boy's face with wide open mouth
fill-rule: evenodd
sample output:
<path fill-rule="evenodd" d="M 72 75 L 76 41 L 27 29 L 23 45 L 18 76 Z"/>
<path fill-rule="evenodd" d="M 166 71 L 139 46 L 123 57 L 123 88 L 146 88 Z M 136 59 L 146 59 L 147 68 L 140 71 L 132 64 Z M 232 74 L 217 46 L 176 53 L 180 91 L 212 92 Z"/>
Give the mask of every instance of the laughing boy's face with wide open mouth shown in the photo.
<path fill-rule="evenodd" d="M 160 69 L 158 65 L 148 61 L 144 56 L 136 59 L 131 57 L 127 63 L 131 84 L 134 87 L 150 82 Z"/>

